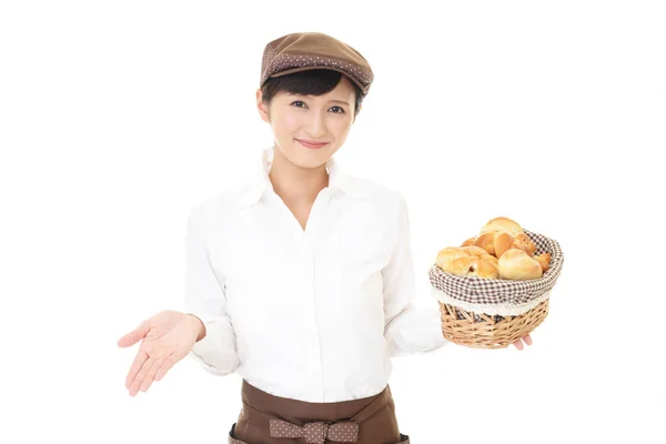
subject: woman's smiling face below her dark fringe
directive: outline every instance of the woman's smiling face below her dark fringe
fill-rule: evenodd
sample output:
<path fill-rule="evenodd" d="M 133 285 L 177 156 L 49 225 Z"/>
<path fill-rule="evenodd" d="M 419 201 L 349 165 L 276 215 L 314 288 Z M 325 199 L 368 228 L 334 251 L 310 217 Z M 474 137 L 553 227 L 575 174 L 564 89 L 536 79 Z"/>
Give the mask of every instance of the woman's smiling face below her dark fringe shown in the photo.
<path fill-rule="evenodd" d="M 268 109 L 261 102 L 261 90 L 256 97 L 260 115 L 273 130 L 275 148 L 301 168 L 325 164 L 342 147 L 354 122 L 355 91 L 344 75 L 323 95 L 281 91 Z"/>

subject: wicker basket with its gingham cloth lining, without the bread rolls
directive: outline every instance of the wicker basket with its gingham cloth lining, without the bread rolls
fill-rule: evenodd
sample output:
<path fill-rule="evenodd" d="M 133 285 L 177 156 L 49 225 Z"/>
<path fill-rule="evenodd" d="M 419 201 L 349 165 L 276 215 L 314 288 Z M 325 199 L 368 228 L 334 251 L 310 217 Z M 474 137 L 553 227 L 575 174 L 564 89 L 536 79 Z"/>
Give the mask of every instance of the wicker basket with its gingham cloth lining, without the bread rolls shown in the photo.
<path fill-rule="evenodd" d="M 556 241 L 524 232 L 535 243 L 536 254 L 551 253 L 549 268 L 539 279 L 482 279 L 431 268 L 433 295 L 438 300 L 442 332 L 448 341 L 475 349 L 504 349 L 544 322 L 564 255 Z"/>

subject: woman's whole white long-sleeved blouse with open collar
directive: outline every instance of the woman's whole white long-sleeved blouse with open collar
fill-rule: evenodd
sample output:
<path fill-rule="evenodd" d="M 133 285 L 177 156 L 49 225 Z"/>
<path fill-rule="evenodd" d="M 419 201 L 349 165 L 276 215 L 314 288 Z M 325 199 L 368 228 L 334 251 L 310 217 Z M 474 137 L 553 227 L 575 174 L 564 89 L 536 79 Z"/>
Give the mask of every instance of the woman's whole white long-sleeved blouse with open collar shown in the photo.
<path fill-rule="evenodd" d="M 446 343 L 436 303 L 413 304 L 405 200 L 332 159 L 303 230 L 269 180 L 273 154 L 263 151 L 250 183 L 188 219 L 184 311 L 206 327 L 190 355 L 275 396 L 377 394 L 392 356 Z"/>

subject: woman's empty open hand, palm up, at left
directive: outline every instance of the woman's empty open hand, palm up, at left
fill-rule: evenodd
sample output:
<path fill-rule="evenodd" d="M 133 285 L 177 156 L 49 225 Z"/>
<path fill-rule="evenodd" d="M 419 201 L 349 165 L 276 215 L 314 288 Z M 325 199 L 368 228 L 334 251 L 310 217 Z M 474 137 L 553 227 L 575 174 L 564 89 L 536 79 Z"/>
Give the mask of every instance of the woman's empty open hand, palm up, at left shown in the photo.
<path fill-rule="evenodd" d="M 118 341 L 129 347 L 141 341 L 134 362 L 125 379 L 130 396 L 145 392 L 153 381 L 160 381 L 194 343 L 205 334 L 203 323 L 191 314 L 167 310 L 143 321 Z"/>

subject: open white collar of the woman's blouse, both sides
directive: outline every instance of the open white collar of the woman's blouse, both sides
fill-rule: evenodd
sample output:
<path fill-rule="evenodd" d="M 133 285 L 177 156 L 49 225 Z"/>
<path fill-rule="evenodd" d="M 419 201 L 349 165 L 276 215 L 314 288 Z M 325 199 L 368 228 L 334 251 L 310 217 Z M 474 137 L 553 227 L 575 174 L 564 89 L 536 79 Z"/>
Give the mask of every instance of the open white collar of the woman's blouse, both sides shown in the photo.
<path fill-rule="evenodd" d="M 275 148 L 264 149 L 261 153 L 256 169 L 253 171 L 251 180 L 241 190 L 239 205 L 248 208 L 254 205 L 264 192 L 273 190 L 273 184 L 269 178 Z M 354 178 L 347 175 L 340 169 L 336 159 L 331 158 L 326 162 L 326 172 L 329 173 L 329 188 L 334 191 L 347 193 L 356 198 L 365 198 L 365 193 Z"/>

